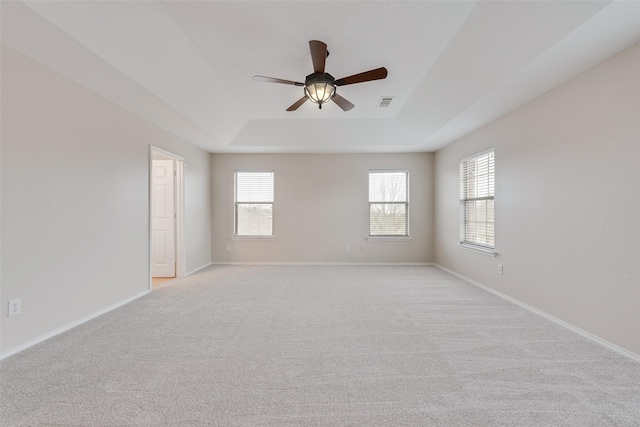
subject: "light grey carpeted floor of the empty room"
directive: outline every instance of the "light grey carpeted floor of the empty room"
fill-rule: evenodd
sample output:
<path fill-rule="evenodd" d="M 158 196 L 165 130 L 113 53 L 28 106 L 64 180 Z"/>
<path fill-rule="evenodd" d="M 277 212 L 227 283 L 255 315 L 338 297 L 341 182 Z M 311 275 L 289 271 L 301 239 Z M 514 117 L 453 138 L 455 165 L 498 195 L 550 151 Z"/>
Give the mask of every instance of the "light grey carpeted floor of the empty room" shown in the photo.
<path fill-rule="evenodd" d="M 0 373 L 2 426 L 640 425 L 639 363 L 436 267 L 209 267 Z"/>

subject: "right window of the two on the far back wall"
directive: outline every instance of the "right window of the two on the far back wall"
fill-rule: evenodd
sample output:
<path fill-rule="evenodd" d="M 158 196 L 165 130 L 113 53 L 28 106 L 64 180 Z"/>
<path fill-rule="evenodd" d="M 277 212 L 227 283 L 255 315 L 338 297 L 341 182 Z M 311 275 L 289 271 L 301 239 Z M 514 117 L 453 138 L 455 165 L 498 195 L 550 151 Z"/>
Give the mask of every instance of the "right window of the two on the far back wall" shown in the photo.
<path fill-rule="evenodd" d="M 409 237 L 409 172 L 369 171 L 369 236 Z"/>

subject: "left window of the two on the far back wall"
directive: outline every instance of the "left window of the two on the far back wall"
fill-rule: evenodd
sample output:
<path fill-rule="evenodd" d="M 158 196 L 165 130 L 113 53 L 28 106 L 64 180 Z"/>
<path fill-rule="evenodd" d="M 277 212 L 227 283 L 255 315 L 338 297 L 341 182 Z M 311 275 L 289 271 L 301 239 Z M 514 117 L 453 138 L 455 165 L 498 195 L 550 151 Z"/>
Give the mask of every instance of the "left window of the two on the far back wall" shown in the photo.
<path fill-rule="evenodd" d="M 273 236 L 273 172 L 235 172 L 235 235 Z"/>

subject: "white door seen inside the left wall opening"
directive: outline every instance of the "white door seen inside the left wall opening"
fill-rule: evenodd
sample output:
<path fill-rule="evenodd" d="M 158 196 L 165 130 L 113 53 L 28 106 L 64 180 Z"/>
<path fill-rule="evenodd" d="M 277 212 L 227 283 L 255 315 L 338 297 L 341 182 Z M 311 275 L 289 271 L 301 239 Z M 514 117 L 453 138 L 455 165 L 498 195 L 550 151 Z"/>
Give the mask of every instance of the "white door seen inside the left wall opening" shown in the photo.
<path fill-rule="evenodd" d="M 153 160 L 153 277 L 176 276 L 173 178 L 173 160 Z"/>

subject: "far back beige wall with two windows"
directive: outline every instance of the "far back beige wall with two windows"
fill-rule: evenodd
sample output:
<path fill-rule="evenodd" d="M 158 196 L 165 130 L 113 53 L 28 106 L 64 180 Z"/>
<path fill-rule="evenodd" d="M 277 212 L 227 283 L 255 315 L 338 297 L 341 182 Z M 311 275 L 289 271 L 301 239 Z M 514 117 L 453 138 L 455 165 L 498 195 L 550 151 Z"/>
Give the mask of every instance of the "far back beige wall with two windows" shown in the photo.
<path fill-rule="evenodd" d="M 431 262 L 432 163 L 430 153 L 213 154 L 212 259 L 214 262 Z M 275 171 L 275 239 L 233 239 L 236 169 Z M 366 239 L 369 169 L 409 170 L 411 240 Z M 226 251 L 227 244 L 231 244 L 230 252 Z M 345 252 L 344 245 L 351 250 Z"/>

